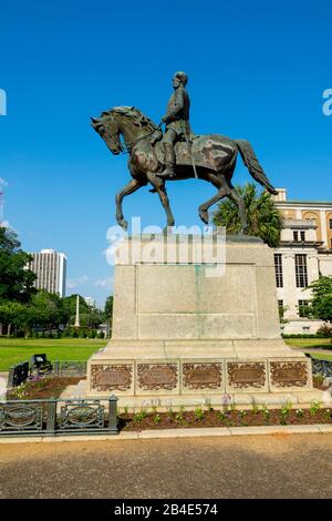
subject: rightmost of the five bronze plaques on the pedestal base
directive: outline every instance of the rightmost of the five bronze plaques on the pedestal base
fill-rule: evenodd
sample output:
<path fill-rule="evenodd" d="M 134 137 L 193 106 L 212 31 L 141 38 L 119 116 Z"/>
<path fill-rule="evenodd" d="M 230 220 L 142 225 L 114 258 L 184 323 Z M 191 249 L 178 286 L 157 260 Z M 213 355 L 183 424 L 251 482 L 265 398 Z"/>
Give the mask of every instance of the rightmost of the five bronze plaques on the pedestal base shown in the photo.
<path fill-rule="evenodd" d="M 305 387 L 308 365 L 303 361 L 271 361 L 271 384 L 274 387 Z"/>

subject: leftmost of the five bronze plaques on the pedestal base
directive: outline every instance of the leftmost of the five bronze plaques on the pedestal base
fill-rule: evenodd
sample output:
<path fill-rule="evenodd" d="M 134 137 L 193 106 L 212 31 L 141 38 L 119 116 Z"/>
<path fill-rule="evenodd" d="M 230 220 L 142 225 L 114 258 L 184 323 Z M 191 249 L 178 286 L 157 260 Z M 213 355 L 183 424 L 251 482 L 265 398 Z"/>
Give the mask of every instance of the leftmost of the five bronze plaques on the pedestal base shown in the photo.
<path fill-rule="evenodd" d="M 91 389 L 97 391 L 128 390 L 132 386 L 133 365 L 91 366 Z"/>

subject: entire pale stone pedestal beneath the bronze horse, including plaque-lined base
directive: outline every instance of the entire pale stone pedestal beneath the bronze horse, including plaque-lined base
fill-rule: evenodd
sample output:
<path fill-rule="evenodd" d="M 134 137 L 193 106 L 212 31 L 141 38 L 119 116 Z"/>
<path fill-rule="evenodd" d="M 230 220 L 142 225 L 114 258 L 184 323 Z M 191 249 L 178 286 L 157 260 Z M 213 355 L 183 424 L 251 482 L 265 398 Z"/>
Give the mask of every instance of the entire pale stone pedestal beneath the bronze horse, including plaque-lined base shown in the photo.
<path fill-rule="evenodd" d="M 280 338 L 267 245 L 142 236 L 122 243 L 118 258 L 113 338 L 89 360 L 89 397 L 135 407 L 220 406 L 227 395 L 241 405 L 311 401 L 311 360 Z"/>

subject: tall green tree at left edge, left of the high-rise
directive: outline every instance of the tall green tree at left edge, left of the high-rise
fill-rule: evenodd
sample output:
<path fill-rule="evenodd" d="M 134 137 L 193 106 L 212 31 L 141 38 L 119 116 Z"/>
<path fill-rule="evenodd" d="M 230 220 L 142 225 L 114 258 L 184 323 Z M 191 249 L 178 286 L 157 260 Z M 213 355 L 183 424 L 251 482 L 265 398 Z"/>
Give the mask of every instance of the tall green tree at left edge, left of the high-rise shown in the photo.
<path fill-rule="evenodd" d="M 20 246 L 13 231 L 0 227 L 0 302 L 28 303 L 35 293 L 37 276 L 28 269 L 32 257 Z"/>

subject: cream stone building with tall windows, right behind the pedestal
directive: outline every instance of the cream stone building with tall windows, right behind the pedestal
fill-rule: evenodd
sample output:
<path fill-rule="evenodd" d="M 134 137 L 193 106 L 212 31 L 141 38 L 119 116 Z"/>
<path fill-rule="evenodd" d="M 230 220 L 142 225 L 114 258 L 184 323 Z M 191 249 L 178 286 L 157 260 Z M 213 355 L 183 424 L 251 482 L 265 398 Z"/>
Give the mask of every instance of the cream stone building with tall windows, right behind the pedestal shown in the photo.
<path fill-rule="evenodd" d="M 276 249 L 276 282 L 279 306 L 288 320 L 283 333 L 315 333 L 321 320 L 302 318 L 311 290 L 320 275 L 332 275 L 332 202 L 288 201 L 278 188 L 276 206 L 283 217 L 280 247 Z"/>

